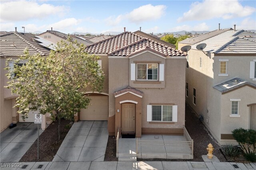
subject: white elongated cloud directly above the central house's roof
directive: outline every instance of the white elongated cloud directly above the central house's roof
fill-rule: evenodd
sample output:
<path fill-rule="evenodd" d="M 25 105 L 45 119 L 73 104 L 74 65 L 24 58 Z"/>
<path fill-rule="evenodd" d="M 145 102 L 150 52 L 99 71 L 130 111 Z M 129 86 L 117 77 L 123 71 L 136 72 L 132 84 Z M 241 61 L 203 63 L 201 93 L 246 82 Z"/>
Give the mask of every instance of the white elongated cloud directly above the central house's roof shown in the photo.
<path fill-rule="evenodd" d="M 140 6 L 129 12 L 128 14 L 121 14 L 119 16 L 110 16 L 106 18 L 107 25 L 116 26 L 122 20 L 129 20 L 132 23 L 139 24 L 145 21 L 154 21 L 161 18 L 166 10 L 165 5 L 152 6 L 151 4 Z"/>

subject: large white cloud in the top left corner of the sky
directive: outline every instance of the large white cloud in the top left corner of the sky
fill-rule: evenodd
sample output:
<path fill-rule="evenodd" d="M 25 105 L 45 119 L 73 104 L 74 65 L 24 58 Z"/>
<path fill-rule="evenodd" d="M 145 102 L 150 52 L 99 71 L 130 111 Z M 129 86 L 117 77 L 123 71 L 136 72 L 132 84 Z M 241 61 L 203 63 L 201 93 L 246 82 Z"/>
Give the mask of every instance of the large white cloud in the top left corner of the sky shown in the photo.
<path fill-rule="evenodd" d="M 38 4 L 35 1 L 7 1 L 1 2 L 0 15 L 2 21 L 23 21 L 49 15 L 63 15 L 68 10 L 69 8 L 65 6 Z"/>

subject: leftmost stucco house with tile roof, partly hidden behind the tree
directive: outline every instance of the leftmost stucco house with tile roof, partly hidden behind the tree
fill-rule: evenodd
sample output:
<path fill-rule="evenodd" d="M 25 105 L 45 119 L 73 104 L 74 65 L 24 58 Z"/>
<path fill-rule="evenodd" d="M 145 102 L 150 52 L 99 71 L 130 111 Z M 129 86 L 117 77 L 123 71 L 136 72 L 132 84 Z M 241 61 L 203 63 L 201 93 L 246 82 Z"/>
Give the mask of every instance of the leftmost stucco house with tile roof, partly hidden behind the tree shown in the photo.
<path fill-rule="evenodd" d="M 11 123 L 23 122 L 22 115 L 18 115 L 18 108 L 13 106 L 16 102 L 16 94 L 11 93 L 10 89 L 4 88 L 7 86 L 9 79 L 5 76 L 7 71 L 6 60 L 8 58 L 18 59 L 18 56 L 24 55 L 23 51 L 27 47 L 30 55 L 40 54 L 46 56 L 50 54 L 50 49 L 54 49 L 52 43 L 34 36 L 33 34 L 22 34 L 18 32 L 5 34 L 0 36 L 0 131 L 7 128 Z M 14 67 L 15 64 L 22 65 L 25 61 L 20 63 L 10 62 L 10 67 Z M 30 111 L 28 119 L 25 122 L 34 122 L 34 113 L 37 111 Z M 42 128 L 46 128 L 46 121 L 50 123 L 50 116 L 44 115 Z"/>

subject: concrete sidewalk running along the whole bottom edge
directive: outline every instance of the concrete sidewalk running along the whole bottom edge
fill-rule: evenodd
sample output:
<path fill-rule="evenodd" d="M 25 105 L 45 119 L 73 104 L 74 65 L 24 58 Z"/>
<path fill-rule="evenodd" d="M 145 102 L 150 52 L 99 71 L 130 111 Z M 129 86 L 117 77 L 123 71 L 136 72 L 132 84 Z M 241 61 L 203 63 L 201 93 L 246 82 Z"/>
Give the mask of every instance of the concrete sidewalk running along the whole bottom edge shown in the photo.
<path fill-rule="evenodd" d="M 35 170 L 256 170 L 256 163 L 235 162 L 19 162 L 22 167 L 12 167 L 16 164 L 1 164 L 1 170 L 25 169 Z M 18 164 L 19 166 L 21 164 Z"/>

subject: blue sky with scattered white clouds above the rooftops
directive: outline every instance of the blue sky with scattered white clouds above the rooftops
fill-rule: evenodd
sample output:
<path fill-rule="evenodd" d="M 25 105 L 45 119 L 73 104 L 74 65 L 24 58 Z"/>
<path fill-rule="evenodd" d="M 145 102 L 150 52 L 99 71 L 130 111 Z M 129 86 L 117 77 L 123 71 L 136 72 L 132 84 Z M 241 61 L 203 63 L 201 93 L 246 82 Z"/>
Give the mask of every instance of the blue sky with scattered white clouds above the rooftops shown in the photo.
<path fill-rule="evenodd" d="M 206 31 L 221 28 L 256 30 L 255 0 L 0 1 L 0 30 L 64 33 L 106 31 L 149 33 Z"/>

